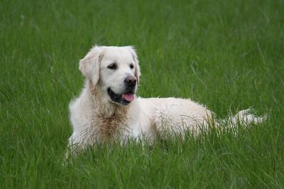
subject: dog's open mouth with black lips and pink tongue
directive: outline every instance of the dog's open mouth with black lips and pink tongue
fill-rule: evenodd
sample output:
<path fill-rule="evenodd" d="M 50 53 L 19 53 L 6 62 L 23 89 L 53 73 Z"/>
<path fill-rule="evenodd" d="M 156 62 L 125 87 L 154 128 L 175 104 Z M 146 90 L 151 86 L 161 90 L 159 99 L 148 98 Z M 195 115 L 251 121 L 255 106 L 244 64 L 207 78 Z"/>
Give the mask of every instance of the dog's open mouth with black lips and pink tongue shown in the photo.
<path fill-rule="evenodd" d="M 111 91 L 111 88 L 107 88 L 107 93 L 109 94 L 111 101 L 120 103 L 121 105 L 129 105 L 129 103 L 134 101 L 135 91 L 133 90 L 126 91 L 126 93 L 122 93 L 119 95 L 119 94 L 114 93 L 114 91 Z"/>

